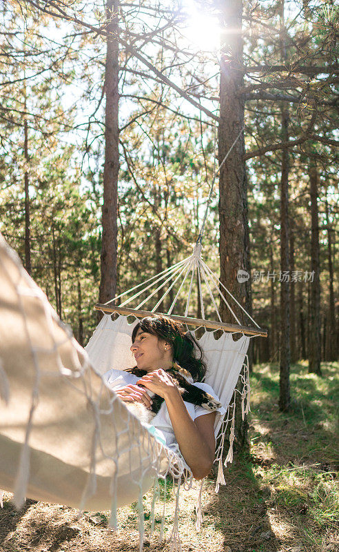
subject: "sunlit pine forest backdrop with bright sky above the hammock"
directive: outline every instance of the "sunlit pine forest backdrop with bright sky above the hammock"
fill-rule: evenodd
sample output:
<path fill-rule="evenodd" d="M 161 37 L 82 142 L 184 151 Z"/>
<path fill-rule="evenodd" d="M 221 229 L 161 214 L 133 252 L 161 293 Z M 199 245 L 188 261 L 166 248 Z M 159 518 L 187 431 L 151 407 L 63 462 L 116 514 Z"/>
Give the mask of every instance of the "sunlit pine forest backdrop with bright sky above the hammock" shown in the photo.
<path fill-rule="evenodd" d="M 105 295 L 105 206 L 120 293 L 192 252 L 243 121 L 203 257 L 232 290 L 236 262 L 250 273 L 244 304 L 269 328 L 256 362 L 282 350 L 285 284 L 291 358 L 309 356 L 316 323 L 322 359 L 336 358 L 337 40 L 331 1 L 2 3 L 0 230 L 81 344 Z M 231 237 L 247 244 L 233 273 Z"/>

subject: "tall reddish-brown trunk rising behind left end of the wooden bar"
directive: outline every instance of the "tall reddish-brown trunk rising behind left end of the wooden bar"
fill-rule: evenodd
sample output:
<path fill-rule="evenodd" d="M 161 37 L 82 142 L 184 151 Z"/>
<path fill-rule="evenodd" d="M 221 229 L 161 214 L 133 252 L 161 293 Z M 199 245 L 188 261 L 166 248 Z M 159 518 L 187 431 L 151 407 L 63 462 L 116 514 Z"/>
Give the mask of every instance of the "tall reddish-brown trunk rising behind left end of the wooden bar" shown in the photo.
<path fill-rule="evenodd" d="M 105 303 L 116 292 L 116 253 L 118 177 L 119 177 L 119 0 L 107 0 L 107 52 L 105 63 L 105 165 L 103 170 L 103 237 L 99 302 Z"/>

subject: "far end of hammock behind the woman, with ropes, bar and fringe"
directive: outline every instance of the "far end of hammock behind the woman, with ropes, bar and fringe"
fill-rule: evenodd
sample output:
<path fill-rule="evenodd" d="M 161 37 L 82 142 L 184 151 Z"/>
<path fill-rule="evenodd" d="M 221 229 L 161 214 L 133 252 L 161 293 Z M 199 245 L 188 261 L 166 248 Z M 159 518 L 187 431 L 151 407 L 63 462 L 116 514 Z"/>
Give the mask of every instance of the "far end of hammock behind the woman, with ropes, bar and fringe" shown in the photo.
<path fill-rule="evenodd" d="M 185 290 L 185 282 L 187 282 L 188 292 Z M 203 319 L 188 317 L 194 282 L 198 282 L 196 297 L 200 299 Z M 205 284 L 205 292 L 207 291 L 209 297 L 209 310 L 212 305 L 216 312 L 216 318 L 218 318 L 217 322 L 205 319 L 203 283 Z M 158 295 L 161 290 L 163 290 L 163 293 L 152 310 L 142 311 L 141 307 L 152 304 L 154 295 Z M 110 370 L 110 368 L 118 370 L 132 368 L 135 362 L 130 352 L 131 335 L 137 320 L 134 319 L 134 322 L 129 324 L 126 315 L 133 315 L 134 318 L 152 315 L 158 306 L 163 303 L 165 297 L 170 293 L 170 290 L 173 290 L 175 296 L 167 311 L 167 315 L 190 326 L 207 326 L 215 330 L 221 328 L 224 330 L 218 338 L 213 331 L 205 331 L 203 336 L 198 339 L 207 364 L 207 374 L 204 381 L 212 386 L 227 412 L 224 419 L 220 416 L 216 418 L 214 428 L 215 435 L 218 437 L 215 457 L 215 461 L 218 462 L 218 477 L 216 482 L 216 491 L 218 491 L 219 484 L 225 481 L 223 476 L 222 457 L 225 444 L 225 432 L 229 422 L 231 422 L 231 431 L 229 435 L 230 442 L 225 464 L 227 462 L 232 462 L 233 459 L 235 397 L 234 400 L 232 400 L 232 396 L 234 395 L 234 389 L 242 368 L 244 368 L 242 375 L 243 391 L 241 401 L 243 417 L 245 413 L 249 411 L 249 379 L 246 353 L 250 337 L 245 335 L 245 333 L 249 333 L 249 335 L 265 335 L 265 331 L 259 328 L 254 319 L 248 315 L 243 306 L 236 301 L 233 295 L 229 293 L 225 286 L 221 284 L 220 280 L 212 273 L 212 270 L 205 264 L 201 257 L 201 243 L 197 242 L 196 246 L 194 246 L 192 255 L 189 255 L 187 259 L 183 259 L 183 261 L 174 264 L 174 266 L 163 270 L 162 273 L 148 279 L 146 282 L 143 282 L 143 284 L 138 284 L 134 286 L 134 288 L 114 297 L 110 302 L 104 305 L 97 304 L 96 308 L 103 312 L 103 318 L 88 342 L 86 351 L 96 371 L 101 374 L 104 374 L 106 371 Z M 185 295 L 185 293 L 187 295 Z M 130 297 L 128 297 L 129 295 Z M 185 297 L 185 317 L 172 314 L 178 299 L 181 299 L 181 295 Z M 225 295 L 238 304 L 240 309 L 249 317 L 255 327 L 240 325 L 240 321 Z M 220 300 L 225 303 L 230 313 L 232 313 L 236 324 L 225 324 L 222 322 L 217 307 L 218 297 L 220 297 Z M 115 302 L 122 298 L 124 298 L 123 302 L 121 302 L 119 306 L 116 306 Z M 127 304 L 135 302 L 136 300 L 138 301 L 136 308 L 131 309 L 126 307 Z M 123 313 L 125 315 L 121 314 L 117 319 L 112 320 L 112 313 Z M 230 333 L 225 333 L 225 331 Z M 234 340 L 233 333 L 242 333 L 243 335 L 241 335 L 239 339 Z M 192 334 L 196 337 L 195 331 L 192 331 Z"/>

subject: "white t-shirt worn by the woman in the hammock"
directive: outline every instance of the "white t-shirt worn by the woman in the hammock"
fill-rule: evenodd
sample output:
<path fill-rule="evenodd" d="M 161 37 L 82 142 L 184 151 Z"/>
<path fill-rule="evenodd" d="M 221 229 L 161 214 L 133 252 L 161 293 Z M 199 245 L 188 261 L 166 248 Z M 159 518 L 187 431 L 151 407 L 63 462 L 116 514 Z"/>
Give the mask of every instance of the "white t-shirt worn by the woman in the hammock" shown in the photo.
<path fill-rule="evenodd" d="M 124 372 L 122 370 L 109 370 L 103 375 L 103 378 L 107 385 L 111 389 L 119 389 L 120 387 L 124 387 L 125 385 L 135 385 L 138 380 L 140 380 L 140 377 L 131 374 L 130 372 Z M 211 386 L 205 383 L 195 383 L 196 387 L 203 389 L 209 395 L 212 395 L 214 399 L 216 399 L 218 402 L 220 402 L 218 396 L 216 393 L 214 393 Z M 192 404 L 192 402 L 186 402 L 184 401 L 184 404 L 187 408 L 187 412 L 189 413 L 190 417 L 192 417 L 192 420 L 196 420 L 199 416 L 203 416 L 205 414 L 209 414 L 209 411 L 207 408 L 203 408 L 203 406 L 196 406 L 195 404 Z M 216 411 L 216 422 L 218 420 L 218 417 L 224 415 L 226 413 L 226 410 L 223 406 L 218 408 Z M 163 435 L 165 436 L 166 445 L 174 452 L 179 452 L 179 447 L 176 442 L 176 438 L 174 435 L 172 423 L 170 420 L 170 415 L 167 411 L 167 406 L 165 401 L 161 404 L 160 410 L 158 413 L 154 416 L 152 420 L 152 426 L 162 431 Z"/>

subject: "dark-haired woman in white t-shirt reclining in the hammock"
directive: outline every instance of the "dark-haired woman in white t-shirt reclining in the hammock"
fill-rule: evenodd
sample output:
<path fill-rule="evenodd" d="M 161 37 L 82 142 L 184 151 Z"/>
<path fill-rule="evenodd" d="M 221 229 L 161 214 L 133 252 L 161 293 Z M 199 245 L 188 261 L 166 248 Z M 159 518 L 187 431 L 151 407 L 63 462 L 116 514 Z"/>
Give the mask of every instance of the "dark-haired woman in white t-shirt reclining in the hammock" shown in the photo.
<path fill-rule="evenodd" d="M 143 318 L 134 327 L 131 346 L 136 366 L 130 373 L 139 379 L 135 384 L 123 385 L 114 391 L 121 400 L 140 402 L 147 408 L 152 405 L 147 390 L 163 397 L 164 404 L 152 424 L 166 435 L 167 446 L 180 451 L 193 476 L 203 479 L 214 462 L 216 412 L 184 402 L 172 377 L 166 373 L 176 362 L 192 375 L 194 382 L 200 382 L 195 383 L 196 386 L 218 400 L 212 388 L 201 383 L 206 368 L 201 358 L 196 358 L 194 344 L 183 326 L 170 318 L 159 315 Z M 199 346 L 198 349 L 201 351 Z M 114 388 L 110 373 L 107 373 L 106 380 Z M 223 408 L 218 409 L 219 414 L 224 412 Z"/>

